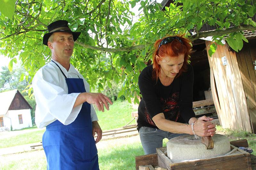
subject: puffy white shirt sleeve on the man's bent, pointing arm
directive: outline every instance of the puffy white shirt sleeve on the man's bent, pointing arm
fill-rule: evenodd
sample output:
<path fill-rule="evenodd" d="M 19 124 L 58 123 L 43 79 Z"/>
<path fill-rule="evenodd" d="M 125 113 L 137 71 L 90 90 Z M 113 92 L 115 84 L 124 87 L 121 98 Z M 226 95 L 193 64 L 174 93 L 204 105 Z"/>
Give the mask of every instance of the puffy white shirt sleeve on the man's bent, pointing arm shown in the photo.
<path fill-rule="evenodd" d="M 41 69 L 33 78 L 36 98 L 36 125 L 41 128 L 56 119 L 62 124 L 72 123 L 82 108 L 82 104 L 73 109 L 80 93 L 67 92 L 60 87 L 58 75 L 51 70 Z"/>

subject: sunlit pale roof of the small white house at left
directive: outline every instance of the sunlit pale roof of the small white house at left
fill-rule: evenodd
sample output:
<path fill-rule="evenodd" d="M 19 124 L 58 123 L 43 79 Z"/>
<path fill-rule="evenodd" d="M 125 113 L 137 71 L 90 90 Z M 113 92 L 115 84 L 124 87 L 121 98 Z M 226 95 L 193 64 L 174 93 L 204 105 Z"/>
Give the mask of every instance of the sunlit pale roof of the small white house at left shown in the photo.
<path fill-rule="evenodd" d="M 7 111 L 9 110 L 10 105 L 12 104 L 13 98 L 15 97 L 16 93 L 20 94 L 18 89 L 5 91 L 5 92 L 0 93 L 0 100 L 1 100 L 1 102 L 0 102 L 0 115 L 5 115 L 7 113 Z M 27 102 L 27 100 L 23 96 L 22 96 L 22 98 L 29 105 L 29 103 Z M 29 107 L 31 108 L 30 105 L 29 105 Z"/>

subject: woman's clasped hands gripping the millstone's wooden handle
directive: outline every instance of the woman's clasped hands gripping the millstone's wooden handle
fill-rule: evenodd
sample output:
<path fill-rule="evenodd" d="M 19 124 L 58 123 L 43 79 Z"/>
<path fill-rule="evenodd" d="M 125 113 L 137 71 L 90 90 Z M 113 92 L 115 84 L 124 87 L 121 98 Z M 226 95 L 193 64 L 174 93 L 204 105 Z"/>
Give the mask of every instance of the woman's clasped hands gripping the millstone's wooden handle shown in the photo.
<path fill-rule="evenodd" d="M 216 128 L 215 124 L 210 122 L 213 118 L 202 116 L 194 124 L 194 131 L 198 136 L 213 136 Z"/>

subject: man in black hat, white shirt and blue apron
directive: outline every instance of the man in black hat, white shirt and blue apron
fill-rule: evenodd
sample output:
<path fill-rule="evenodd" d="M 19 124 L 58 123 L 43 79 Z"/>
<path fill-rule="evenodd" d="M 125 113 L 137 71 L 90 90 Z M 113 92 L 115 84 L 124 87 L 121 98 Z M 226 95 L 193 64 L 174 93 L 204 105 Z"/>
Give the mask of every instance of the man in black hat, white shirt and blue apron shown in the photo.
<path fill-rule="evenodd" d="M 89 84 L 70 64 L 74 41 L 81 32 L 72 32 L 65 20 L 48 25 L 43 44 L 52 51 L 52 60 L 33 78 L 36 98 L 36 125 L 46 126 L 43 147 L 47 169 L 99 169 L 95 143 L 102 137 L 93 109 L 109 110 L 110 99 L 90 93 Z M 94 141 L 95 132 L 98 134 Z"/>

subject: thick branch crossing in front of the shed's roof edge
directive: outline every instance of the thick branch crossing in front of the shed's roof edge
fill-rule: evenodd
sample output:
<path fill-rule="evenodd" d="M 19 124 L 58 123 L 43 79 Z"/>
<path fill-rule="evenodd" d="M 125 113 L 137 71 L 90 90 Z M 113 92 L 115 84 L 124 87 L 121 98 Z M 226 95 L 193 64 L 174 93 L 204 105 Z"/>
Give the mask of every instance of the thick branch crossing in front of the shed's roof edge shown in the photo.
<path fill-rule="evenodd" d="M 190 36 L 189 39 L 191 41 L 194 41 L 196 39 L 200 39 L 203 37 L 206 38 L 208 36 L 230 34 L 232 32 L 245 31 L 245 30 L 256 31 L 256 27 L 252 25 L 239 25 L 239 26 L 233 26 L 229 28 L 223 28 L 222 30 L 202 31 L 202 32 L 199 32 L 198 34 Z"/>

